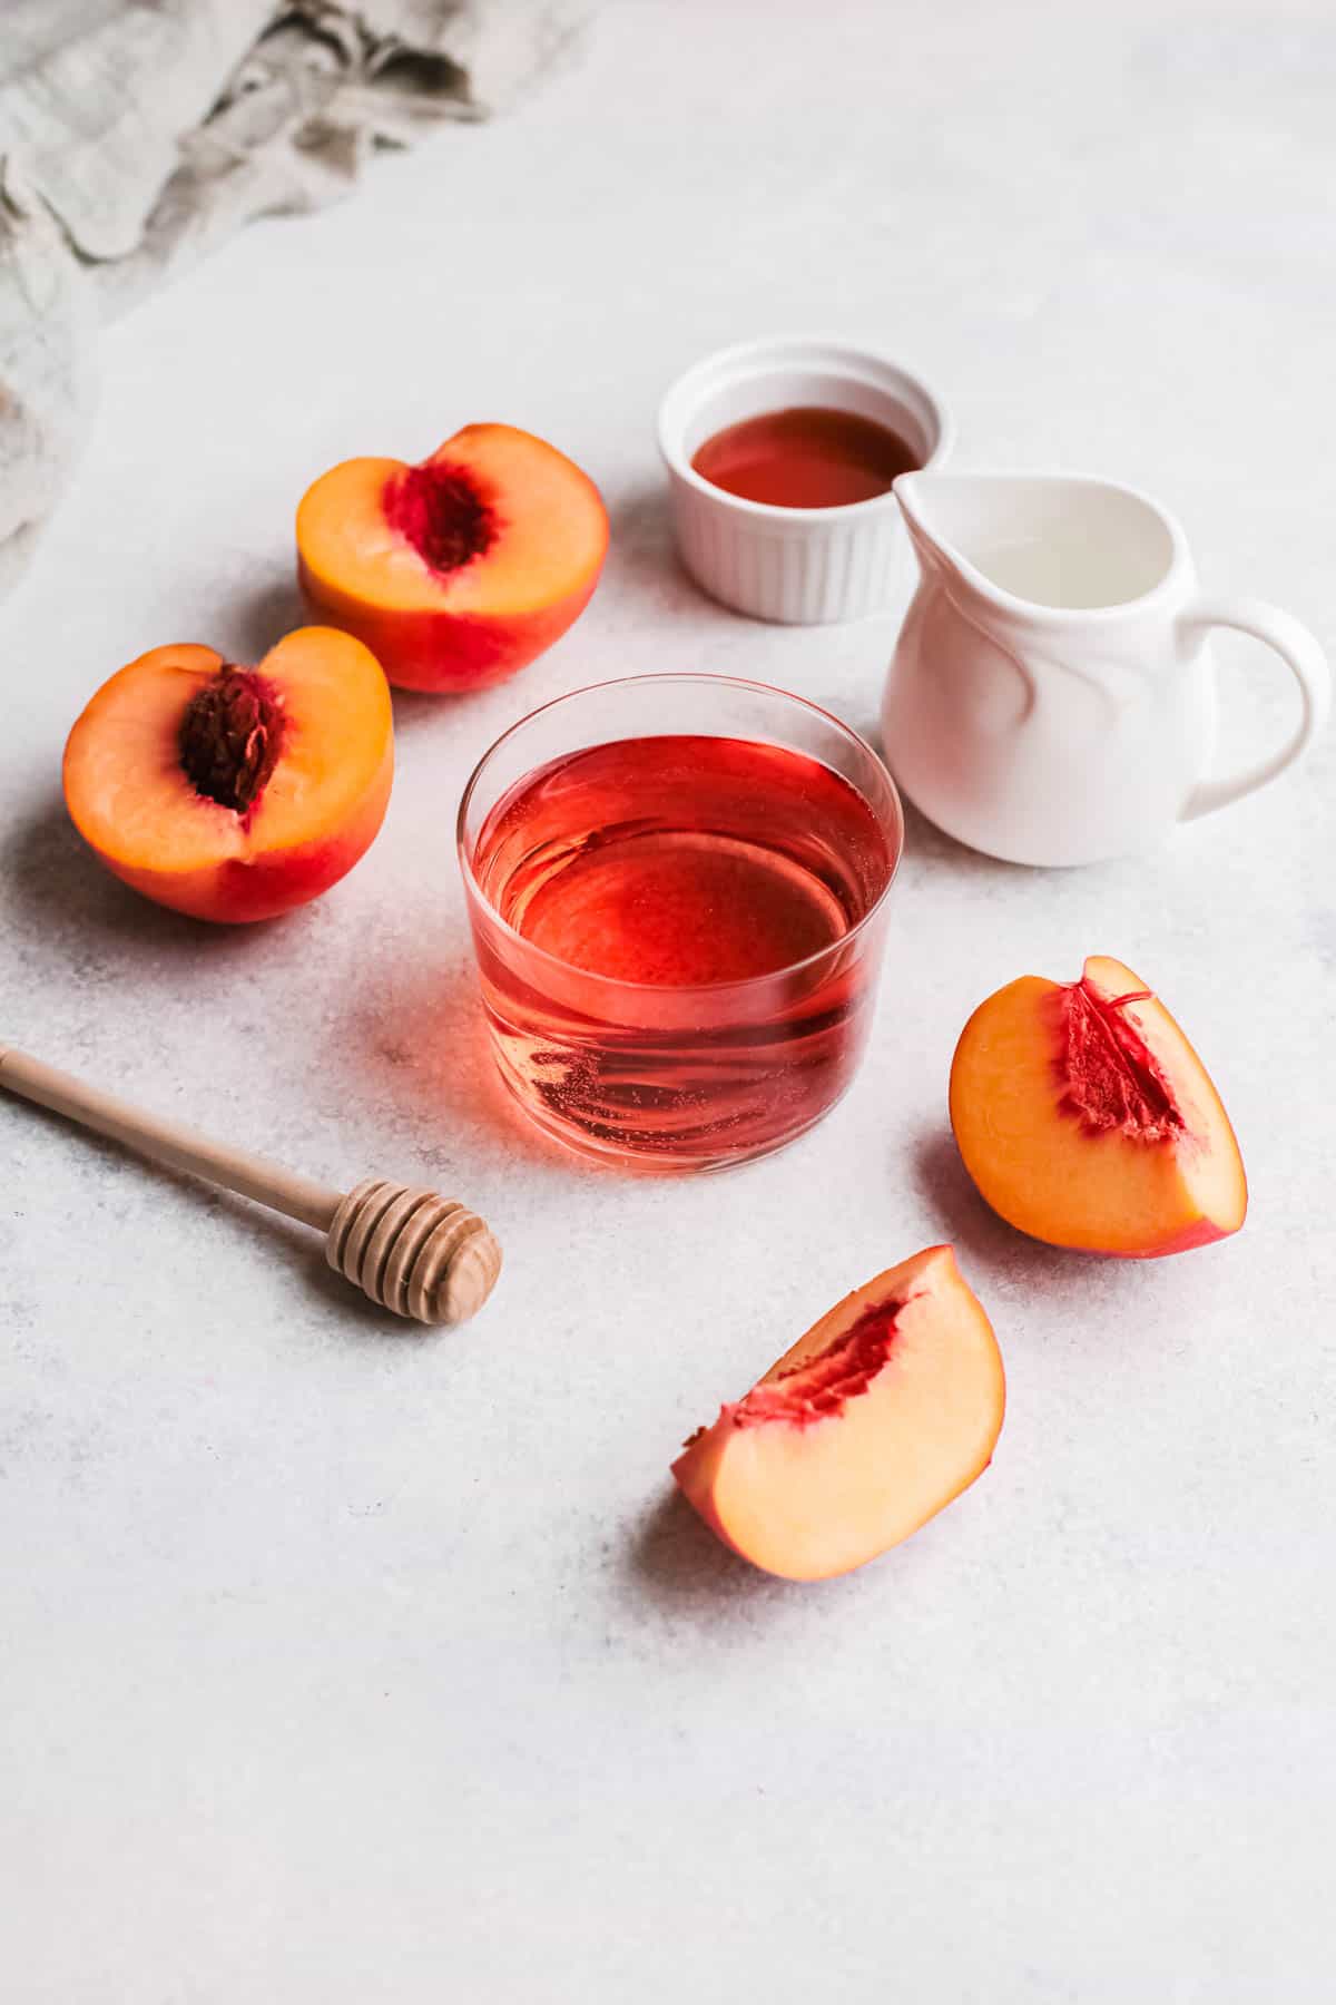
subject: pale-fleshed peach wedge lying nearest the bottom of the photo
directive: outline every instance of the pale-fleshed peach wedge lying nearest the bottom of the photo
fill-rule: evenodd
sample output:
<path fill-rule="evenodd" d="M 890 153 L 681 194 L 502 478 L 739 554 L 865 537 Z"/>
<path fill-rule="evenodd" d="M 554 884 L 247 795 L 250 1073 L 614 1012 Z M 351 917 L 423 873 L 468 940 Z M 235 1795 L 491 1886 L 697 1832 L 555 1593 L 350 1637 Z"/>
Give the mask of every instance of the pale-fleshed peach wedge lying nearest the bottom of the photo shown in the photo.
<path fill-rule="evenodd" d="M 785 1580 L 847 1574 L 981 1476 L 1006 1379 L 951 1247 L 845 1295 L 673 1464 L 719 1538 Z"/>

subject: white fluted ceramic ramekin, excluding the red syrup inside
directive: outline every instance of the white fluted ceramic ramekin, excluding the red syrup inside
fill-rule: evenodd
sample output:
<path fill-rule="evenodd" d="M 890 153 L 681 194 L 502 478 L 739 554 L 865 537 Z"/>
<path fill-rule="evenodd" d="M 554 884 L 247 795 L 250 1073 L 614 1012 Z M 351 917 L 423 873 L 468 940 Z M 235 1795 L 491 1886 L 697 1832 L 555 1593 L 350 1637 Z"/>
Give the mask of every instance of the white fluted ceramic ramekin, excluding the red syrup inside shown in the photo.
<path fill-rule="evenodd" d="M 885 612 L 905 555 L 895 495 L 845 507 L 773 507 L 715 487 L 691 455 L 723 425 L 791 405 L 827 405 L 891 425 L 939 467 L 951 419 L 927 385 L 885 355 L 803 337 L 743 341 L 687 369 L 659 405 L 681 561 L 711 597 L 787 626 Z"/>

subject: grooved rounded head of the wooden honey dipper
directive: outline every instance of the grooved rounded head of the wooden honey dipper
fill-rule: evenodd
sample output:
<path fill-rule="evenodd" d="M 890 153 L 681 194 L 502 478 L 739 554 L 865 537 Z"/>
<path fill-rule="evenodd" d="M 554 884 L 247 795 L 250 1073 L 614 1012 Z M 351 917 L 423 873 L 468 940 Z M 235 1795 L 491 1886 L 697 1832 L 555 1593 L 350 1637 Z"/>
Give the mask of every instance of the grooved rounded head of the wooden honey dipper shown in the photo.
<path fill-rule="evenodd" d="M 501 1247 L 477 1211 L 377 1177 L 343 1199 L 324 1255 L 373 1301 L 419 1323 L 467 1323 L 501 1273 Z"/>

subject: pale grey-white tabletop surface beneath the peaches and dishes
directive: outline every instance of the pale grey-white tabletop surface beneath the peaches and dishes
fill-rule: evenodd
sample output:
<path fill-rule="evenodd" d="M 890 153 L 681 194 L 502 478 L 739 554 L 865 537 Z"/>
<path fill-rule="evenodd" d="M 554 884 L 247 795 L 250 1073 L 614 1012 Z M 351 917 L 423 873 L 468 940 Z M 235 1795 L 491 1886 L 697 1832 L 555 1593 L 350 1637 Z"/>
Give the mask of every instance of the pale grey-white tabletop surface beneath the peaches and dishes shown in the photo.
<path fill-rule="evenodd" d="M 667 553 L 657 393 L 771 327 L 921 367 L 959 465 L 1162 493 L 1212 587 L 1332 638 L 1330 16 L 1092 12 L 615 8 L 515 120 L 108 337 L 4 612 L 0 1035 L 312 1175 L 435 1177 L 509 1267 L 463 1333 L 387 1327 L 296 1229 L 0 1105 L 16 2005 L 1328 1995 L 1336 742 L 1078 874 L 915 820 L 857 1091 L 721 1181 L 509 1125 L 451 854 L 477 752 L 585 680 L 717 668 L 871 724 L 889 622 L 749 626 Z M 102 876 L 58 796 L 94 684 L 164 640 L 252 656 L 298 618 L 302 485 L 489 417 L 607 493 L 581 626 L 399 704 L 385 832 L 316 908 L 214 932 Z M 1284 728 L 1264 656 L 1226 694 L 1236 750 Z M 961 1181 L 959 1025 L 1088 950 L 1216 1073 L 1232 1243 L 1090 1263 Z M 843 1582 L 747 1572 L 671 1504 L 675 1444 L 941 1237 L 1008 1359 L 991 1472 Z"/>

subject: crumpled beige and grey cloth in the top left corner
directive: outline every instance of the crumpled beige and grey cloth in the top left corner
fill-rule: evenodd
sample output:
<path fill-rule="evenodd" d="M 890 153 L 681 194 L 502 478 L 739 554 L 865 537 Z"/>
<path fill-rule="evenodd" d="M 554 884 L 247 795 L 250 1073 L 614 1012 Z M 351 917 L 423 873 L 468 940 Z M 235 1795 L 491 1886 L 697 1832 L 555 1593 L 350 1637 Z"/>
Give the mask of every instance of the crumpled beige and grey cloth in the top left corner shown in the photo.
<path fill-rule="evenodd" d="M 64 487 L 96 327 L 252 217 L 485 118 L 589 0 L 4 0 L 0 591 Z"/>

